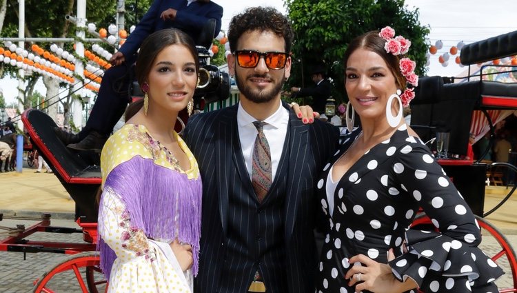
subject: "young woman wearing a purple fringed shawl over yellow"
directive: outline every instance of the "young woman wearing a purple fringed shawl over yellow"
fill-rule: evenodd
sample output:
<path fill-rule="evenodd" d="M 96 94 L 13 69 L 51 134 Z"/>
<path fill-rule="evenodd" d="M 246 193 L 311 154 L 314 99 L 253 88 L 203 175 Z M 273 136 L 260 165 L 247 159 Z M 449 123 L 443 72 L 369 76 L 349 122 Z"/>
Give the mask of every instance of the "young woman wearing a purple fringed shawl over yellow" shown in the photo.
<path fill-rule="evenodd" d="M 192 292 L 201 177 L 174 125 L 196 88 L 194 42 L 179 30 L 154 32 L 142 43 L 135 72 L 144 101 L 132 104 L 138 112 L 128 110 L 132 117 L 101 154 L 101 268 L 108 292 Z"/>

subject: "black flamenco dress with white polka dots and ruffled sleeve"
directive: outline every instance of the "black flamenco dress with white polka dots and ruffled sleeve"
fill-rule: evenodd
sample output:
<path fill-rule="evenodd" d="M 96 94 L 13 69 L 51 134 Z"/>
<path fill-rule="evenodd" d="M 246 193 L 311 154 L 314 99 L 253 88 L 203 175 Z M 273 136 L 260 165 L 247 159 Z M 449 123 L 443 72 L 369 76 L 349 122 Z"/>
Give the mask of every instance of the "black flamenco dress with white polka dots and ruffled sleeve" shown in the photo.
<path fill-rule="evenodd" d="M 354 292 L 344 279 L 354 265 L 348 259 L 365 254 L 387 263 L 390 248 L 397 256 L 389 263 L 394 276 L 401 281 L 411 277 L 423 292 L 498 292 L 493 281 L 503 272 L 478 249 L 474 214 L 429 149 L 409 136 L 406 125 L 366 152 L 327 198 L 331 167 L 360 132 L 348 134 L 318 181 L 329 231 L 316 292 Z M 419 207 L 440 232 L 407 230 Z M 407 253 L 402 252 L 404 242 Z"/>

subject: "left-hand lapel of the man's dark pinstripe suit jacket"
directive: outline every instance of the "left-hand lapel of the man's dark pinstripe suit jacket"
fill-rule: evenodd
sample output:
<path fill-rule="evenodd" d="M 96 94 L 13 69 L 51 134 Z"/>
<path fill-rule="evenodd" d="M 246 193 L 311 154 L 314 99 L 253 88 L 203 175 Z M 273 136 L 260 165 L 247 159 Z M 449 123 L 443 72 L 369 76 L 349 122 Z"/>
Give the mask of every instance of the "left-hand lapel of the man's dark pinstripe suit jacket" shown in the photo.
<path fill-rule="evenodd" d="M 228 193 L 229 184 L 232 180 L 230 178 L 230 168 L 232 165 L 232 152 L 234 140 L 236 137 L 236 106 L 225 108 L 222 110 L 221 119 L 218 123 L 216 133 L 216 178 L 218 184 L 218 195 L 219 195 L 219 215 L 221 216 L 221 225 L 223 226 L 223 232 L 227 234 L 227 210 L 228 210 Z"/>

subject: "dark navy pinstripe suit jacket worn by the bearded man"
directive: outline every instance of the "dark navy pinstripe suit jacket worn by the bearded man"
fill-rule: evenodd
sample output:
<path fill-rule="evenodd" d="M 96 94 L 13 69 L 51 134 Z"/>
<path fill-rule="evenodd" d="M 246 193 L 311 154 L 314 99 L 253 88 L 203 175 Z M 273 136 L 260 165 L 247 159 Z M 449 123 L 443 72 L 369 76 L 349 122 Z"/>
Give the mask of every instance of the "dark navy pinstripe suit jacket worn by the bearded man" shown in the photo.
<path fill-rule="evenodd" d="M 194 292 L 217 292 L 221 283 L 221 271 L 227 253 L 227 212 L 230 186 L 250 180 L 230 172 L 238 168 L 240 148 L 237 130 L 237 106 L 194 115 L 185 129 L 185 141 L 196 157 L 203 179 L 203 213 L 201 223 L 201 253 L 199 275 L 194 281 Z M 287 104 L 283 105 L 289 107 Z M 285 271 L 288 292 L 314 292 L 316 270 L 316 246 L 314 227 L 316 201 L 314 188 L 318 173 L 323 170 L 327 158 L 334 154 L 338 141 L 338 129 L 316 121 L 304 125 L 290 111 L 288 130 L 287 187 L 284 204 Z M 230 178 L 227 174 L 236 174 Z M 276 178 L 281 178 L 277 176 Z M 247 184 L 249 185 L 249 183 Z M 319 210 L 319 209 L 318 209 Z M 266 264 L 267 265 L 267 264 Z M 241 292 L 250 284 L 250 276 L 242 274 L 235 280 L 234 292 Z M 267 286 L 267 284 L 266 284 Z M 245 292 L 244 290 L 243 292 Z"/>

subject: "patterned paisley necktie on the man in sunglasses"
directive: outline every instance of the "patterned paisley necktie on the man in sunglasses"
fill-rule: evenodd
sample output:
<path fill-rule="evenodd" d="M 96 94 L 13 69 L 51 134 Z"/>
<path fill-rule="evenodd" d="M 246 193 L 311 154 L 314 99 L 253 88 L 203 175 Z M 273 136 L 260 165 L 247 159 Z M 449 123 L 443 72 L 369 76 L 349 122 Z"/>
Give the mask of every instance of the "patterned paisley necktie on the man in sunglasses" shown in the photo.
<path fill-rule="evenodd" d="M 272 182 L 270 144 L 267 143 L 267 139 L 262 131 L 265 124 L 259 121 L 253 123 L 259 133 L 256 134 L 253 147 L 252 185 L 259 203 L 263 201 L 267 190 L 270 190 Z"/>

